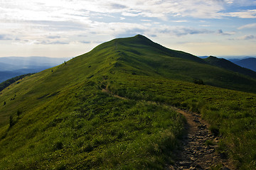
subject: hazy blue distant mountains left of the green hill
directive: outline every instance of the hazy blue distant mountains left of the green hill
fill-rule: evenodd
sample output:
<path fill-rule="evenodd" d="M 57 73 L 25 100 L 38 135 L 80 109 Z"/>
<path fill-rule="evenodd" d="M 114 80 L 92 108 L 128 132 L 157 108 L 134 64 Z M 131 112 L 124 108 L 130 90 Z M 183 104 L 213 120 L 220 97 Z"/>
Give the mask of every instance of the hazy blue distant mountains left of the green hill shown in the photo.
<path fill-rule="evenodd" d="M 0 57 L 0 83 L 21 74 L 41 72 L 67 60 L 69 58 Z"/>

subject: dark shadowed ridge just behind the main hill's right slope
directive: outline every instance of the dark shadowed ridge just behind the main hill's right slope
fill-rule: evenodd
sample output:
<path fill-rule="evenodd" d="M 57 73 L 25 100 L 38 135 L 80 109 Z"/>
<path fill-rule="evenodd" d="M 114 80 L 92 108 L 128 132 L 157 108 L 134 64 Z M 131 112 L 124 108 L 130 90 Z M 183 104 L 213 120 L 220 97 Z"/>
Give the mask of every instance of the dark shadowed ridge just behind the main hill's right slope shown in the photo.
<path fill-rule="evenodd" d="M 210 56 L 210 57 L 208 57 L 204 60 L 206 62 L 212 64 L 212 65 L 222 67 L 224 69 L 228 69 L 228 70 L 233 71 L 233 72 L 238 72 L 240 74 L 245 74 L 249 77 L 256 78 L 256 72 L 253 72 L 250 69 L 245 69 L 243 67 L 240 67 L 239 65 L 234 64 L 233 62 L 230 62 L 230 61 L 225 60 L 223 58 L 219 59 L 217 57 Z"/>

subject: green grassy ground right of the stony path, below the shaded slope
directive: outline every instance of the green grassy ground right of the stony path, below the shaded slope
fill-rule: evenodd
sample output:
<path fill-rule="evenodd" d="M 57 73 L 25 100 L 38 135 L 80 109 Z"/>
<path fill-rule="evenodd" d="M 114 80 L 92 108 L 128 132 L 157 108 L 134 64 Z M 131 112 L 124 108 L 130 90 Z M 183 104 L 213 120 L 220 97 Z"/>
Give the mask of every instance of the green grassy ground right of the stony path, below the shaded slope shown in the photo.
<path fill-rule="evenodd" d="M 233 159 L 238 169 L 256 168 L 255 94 L 134 75 L 116 75 L 108 88 L 122 97 L 201 113 L 210 123 L 210 130 L 222 137 L 219 152 Z"/>

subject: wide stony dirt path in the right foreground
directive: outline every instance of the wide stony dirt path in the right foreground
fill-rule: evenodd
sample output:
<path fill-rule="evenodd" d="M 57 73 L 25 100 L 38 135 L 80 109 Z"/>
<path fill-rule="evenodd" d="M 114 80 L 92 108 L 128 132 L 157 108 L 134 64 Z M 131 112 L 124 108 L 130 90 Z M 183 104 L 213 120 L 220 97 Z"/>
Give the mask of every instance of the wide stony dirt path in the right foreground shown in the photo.
<path fill-rule="evenodd" d="M 181 140 L 181 150 L 177 151 L 175 164 L 166 169 L 234 169 L 228 159 L 216 152 L 218 137 L 208 130 L 209 125 L 200 115 L 176 108 L 187 120 L 187 135 Z"/>

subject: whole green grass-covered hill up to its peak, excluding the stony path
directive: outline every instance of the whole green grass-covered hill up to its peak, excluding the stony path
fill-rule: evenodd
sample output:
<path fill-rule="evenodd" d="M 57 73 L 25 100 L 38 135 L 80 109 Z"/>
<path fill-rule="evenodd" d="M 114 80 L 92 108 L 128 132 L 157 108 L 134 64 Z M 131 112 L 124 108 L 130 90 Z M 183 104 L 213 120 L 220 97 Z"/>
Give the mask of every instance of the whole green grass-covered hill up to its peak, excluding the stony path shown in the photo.
<path fill-rule="evenodd" d="M 201 113 L 218 152 L 254 169 L 255 84 L 142 35 L 105 42 L 1 92 L 0 169 L 164 169 L 184 125 L 171 106 Z"/>

